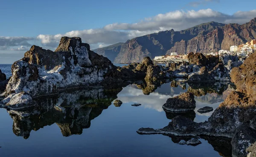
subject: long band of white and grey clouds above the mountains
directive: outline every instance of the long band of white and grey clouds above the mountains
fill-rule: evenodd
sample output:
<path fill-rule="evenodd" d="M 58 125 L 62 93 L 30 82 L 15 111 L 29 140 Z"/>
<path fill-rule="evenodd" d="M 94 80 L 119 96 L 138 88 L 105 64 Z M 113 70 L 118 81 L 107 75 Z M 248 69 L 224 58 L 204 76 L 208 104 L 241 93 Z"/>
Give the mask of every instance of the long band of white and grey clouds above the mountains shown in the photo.
<path fill-rule="evenodd" d="M 197 3 L 218 2 L 218 0 L 201 0 Z M 219 23 L 246 23 L 256 16 L 256 9 L 247 12 L 236 12 L 227 15 L 212 9 L 201 9 L 198 11 L 177 10 L 147 17 L 138 23 L 112 23 L 99 29 L 74 30 L 64 34 L 37 35 L 33 37 L 0 37 L 0 50 L 22 51 L 30 47 L 29 41 L 40 41 L 41 46 L 54 50 L 62 36 L 81 37 L 83 42 L 91 45 L 91 48 L 103 47 L 105 45 L 125 42 L 128 39 L 153 32 L 174 29 L 175 31 L 189 27 L 216 21 Z"/>

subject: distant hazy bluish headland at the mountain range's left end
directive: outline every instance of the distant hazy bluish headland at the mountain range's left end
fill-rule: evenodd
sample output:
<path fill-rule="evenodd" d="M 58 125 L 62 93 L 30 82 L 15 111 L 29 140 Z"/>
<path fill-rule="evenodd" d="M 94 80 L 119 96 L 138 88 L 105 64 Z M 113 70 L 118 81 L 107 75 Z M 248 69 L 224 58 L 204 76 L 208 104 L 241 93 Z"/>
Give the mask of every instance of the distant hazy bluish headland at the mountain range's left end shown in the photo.
<path fill-rule="evenodd" d="M 99 55 L 103 55 L 104 57 L 107 57 L 111 62 L 113 62 L 118 53 L 120 52 L 123 44 L 124 43 L 116 43 L 108 47 L 93 49 L 93 52 L 96 52 Z"/>

